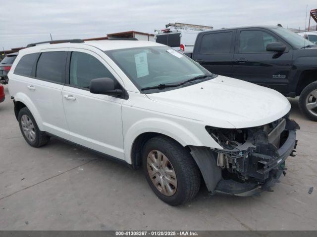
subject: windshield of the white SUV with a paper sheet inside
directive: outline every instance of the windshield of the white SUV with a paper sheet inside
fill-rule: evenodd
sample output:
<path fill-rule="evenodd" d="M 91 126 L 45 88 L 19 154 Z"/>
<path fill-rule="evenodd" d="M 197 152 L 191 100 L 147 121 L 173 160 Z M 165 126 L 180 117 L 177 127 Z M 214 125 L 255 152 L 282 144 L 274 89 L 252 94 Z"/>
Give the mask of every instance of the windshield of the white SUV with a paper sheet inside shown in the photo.
<path fill-rule="evenodd" d="M 189 57 L 165 46 L 127 48 L 105 53 L 140 90 L 213 75 Z"/>

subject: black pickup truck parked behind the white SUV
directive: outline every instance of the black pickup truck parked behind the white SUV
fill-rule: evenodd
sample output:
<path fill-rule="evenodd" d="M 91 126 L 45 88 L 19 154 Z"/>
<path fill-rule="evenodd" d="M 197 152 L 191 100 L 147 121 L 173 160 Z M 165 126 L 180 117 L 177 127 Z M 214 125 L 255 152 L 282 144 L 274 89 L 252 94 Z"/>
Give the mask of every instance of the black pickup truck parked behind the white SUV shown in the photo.
<path fill-rule="evenodd" d="M 300 96 L 299 106 L 317 121 L 317 45 L 278 26 L 242 27 L 198 34 L 186 54 L 210 72 Z"/>

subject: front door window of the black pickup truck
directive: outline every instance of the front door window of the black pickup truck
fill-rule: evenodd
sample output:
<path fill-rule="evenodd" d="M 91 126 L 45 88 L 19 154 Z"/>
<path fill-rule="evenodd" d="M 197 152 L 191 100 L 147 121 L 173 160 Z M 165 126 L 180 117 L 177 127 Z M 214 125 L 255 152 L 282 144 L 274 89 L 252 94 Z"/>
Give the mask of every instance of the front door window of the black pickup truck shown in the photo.
<path fill-rule="evenodd" d="M 264 31 L 241 31 L 239 52 L 263 53 L 271 42 L 277 42 L 277 39 Z"/>

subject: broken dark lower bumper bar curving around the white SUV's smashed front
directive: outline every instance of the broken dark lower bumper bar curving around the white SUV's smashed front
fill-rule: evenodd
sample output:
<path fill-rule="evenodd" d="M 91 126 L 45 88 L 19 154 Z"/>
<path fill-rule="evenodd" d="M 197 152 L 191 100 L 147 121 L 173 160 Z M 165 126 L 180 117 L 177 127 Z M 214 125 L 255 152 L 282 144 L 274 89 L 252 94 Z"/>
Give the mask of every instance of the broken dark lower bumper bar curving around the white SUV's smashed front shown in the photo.
<path fill-rule="evenodd" d="M 296 131 L 289 130 L 288 137 L 284 144 L 278 149 L 278 156 L 271 158 L 268 162 L 264 163 L 263 160 L 257 160 L 264 164 L 262 169 L 257 170 L 259 176 L 264 176 L 265 180 L 262 183 L 245 181 L 245 182 L 237 182 L 232 179 L 224 180 L 221 179 L 214 192 L 212 194 L 224 194 L 224 195 L 233 195 L 233 196 L 241 196 L 247 197 L 255 194 L 259 194 L 263 191 L 271 190 L 271 187 L 278 182 L 281 174 L 285 174 L 285 160 L 292 153 L 293 149 L 296 149 L 297 140 L 296 140 Z M 292 154 L 292 156 L 295 156 Z M 257 157 L 257 154 L 255 154 Z"/>

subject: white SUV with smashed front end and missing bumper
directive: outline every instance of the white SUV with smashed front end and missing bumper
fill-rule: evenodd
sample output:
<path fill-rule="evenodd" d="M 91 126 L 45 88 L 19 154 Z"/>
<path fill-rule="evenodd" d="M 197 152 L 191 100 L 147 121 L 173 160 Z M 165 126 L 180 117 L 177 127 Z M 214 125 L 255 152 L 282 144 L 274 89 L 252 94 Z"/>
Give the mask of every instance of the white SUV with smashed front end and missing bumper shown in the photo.
<path fill-rule="evenodd" d="M 171 205 L 195 197 L 201 178 L 211 194 L 270 189 L 297 144 L 283 95 L 214 75 L 155 42 L 31 44 L 8 77 L 31 146 L 54 136 L 143 166 Z"/>

